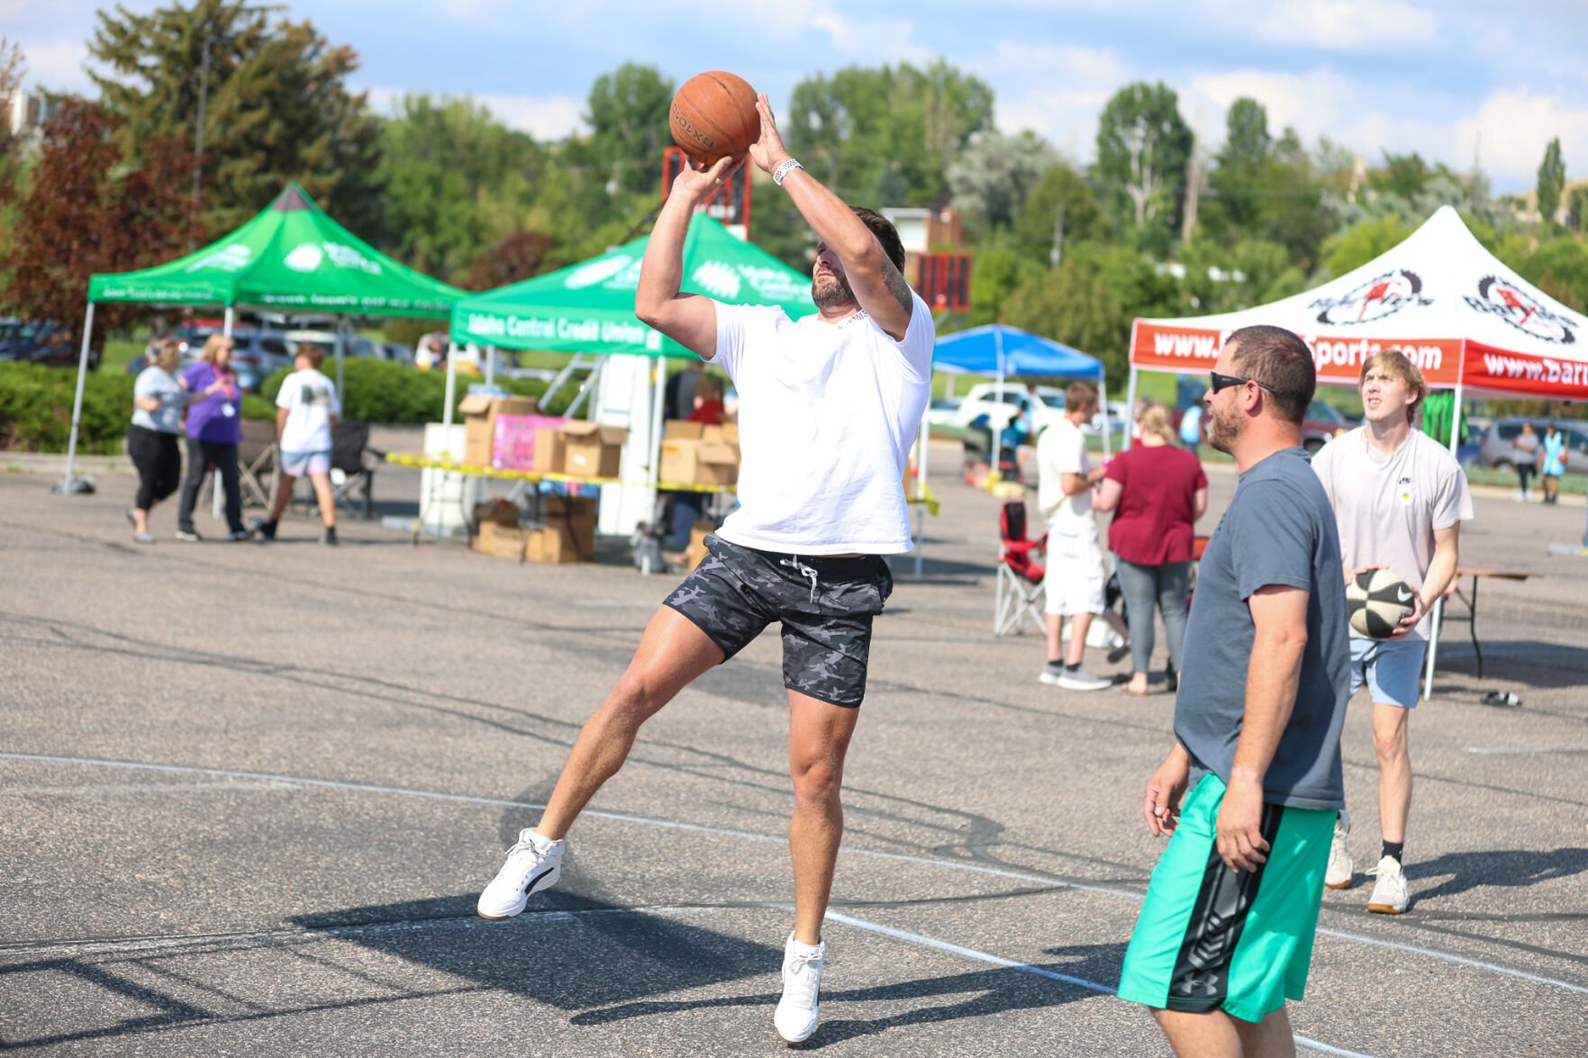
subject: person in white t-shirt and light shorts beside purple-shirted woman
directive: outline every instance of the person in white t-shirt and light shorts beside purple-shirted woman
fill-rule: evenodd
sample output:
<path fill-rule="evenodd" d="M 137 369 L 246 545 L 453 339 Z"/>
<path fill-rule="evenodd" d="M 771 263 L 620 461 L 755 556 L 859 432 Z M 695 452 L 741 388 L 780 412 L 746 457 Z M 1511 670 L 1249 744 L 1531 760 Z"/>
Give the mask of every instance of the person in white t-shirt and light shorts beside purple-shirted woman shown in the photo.
<path fill-rule="evenodd" d="M 330 429 L 341 415 L 341 402 L 332 381 L 319 373 L 324 357 L 318 345 L 299 343 L 292 356 L 292 367 L 297 370 L 286 376 L 281 392 L 276 394 L 281 483 L 270 505 L 270 518 L 254 523 L 260 540 L 276 539 L 276 523 L 292 500 L 292 485 L 308 475 L 314 486 L 314 500 L 319 504 L 319 518 L 326 524 L 319 542 L 332 546 L 337 543 L 337 502 L 330 489 Z"/>

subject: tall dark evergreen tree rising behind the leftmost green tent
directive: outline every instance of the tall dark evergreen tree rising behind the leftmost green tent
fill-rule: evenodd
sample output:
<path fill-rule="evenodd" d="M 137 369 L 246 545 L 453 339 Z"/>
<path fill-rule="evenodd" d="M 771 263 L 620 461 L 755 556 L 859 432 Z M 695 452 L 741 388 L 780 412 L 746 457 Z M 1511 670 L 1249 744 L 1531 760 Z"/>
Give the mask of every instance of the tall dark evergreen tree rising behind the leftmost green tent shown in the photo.
<path fill-rule="evenodd" d="M 133 165 L 156 140 L 195 141 L 203 121 L 203 227 L 235 227 L 297 181 L 338 221 L 373 237 L 378 127 L 365 97 L 346 89 L 351 48 L 332 46 L 310 22 L 270 24 L 273 8 L 238 0 L 173 3 L 149 14 L 102 10 L 89 76 L 119 118 Z M 206 60 L 208 59 L 208 60 Z"/>

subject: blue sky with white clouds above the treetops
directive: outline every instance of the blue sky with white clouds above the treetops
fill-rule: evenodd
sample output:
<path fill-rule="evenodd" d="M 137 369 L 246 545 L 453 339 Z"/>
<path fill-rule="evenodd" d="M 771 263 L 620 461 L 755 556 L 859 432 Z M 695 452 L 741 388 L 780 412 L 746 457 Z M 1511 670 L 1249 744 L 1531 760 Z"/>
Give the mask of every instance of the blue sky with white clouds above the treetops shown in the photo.
<path fill-rule="evenodd" d="M 27 83 L 87 91 L 84 41 L 100 5 L 0 0 L 0 35 Z M 122 0 L 130 11 L 160 3 Z M 942 56 L 992 86 L 1004 132 L 1032 129 L 1088 162 L 1097 113 L 1131 81 L 1164 81 L 1216 149 L 1250 95 L 1369 164 L 1418 151 L 1501 192 L 1532 187 L 1561 138 L 1588 176 L 1588 0 L 289 0 L 333 43 L 383 113 L 403 92 L 473 95 L 542 138 L 580 129 L 591 83 L 622 62 L 675 81 L 732 70 L 786 105 L 813 73 Z"/>

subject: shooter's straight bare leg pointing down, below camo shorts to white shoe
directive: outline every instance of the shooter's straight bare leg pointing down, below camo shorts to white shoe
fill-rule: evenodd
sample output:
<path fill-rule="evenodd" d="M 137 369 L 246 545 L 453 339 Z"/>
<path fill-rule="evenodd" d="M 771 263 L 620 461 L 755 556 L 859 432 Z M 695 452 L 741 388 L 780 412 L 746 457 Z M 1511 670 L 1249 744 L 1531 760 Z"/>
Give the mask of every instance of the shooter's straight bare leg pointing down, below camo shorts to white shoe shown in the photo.
<path fill-rule="evenodd" d="M 821 920 L 832 894 L 832 869 L 843 839 L 843 755 L 861 710 L 789 691 L 789 775 L 794 818 L 794 939 L 821 944 Z"/>

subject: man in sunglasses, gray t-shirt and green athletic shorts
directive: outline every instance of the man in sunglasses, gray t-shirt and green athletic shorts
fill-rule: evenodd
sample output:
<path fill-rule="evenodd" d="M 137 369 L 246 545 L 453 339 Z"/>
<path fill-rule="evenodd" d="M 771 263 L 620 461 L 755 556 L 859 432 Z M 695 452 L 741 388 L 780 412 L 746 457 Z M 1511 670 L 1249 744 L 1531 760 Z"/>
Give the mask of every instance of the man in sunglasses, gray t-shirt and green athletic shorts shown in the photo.
<path fill-rule="evenodd" d="M 1301 448 L 1315 386 L 1299 337 L 1243 327 L 1207 396 L 1208 443 L 1240 481 L 1197 573 L 1175 745 L 1142 805 L 1170 839 L 1120 977 L 1181 1055 L 1293 1050 L 1285 1002 L 1305 991 L 1345 804 L 1345 577 Z"/>

